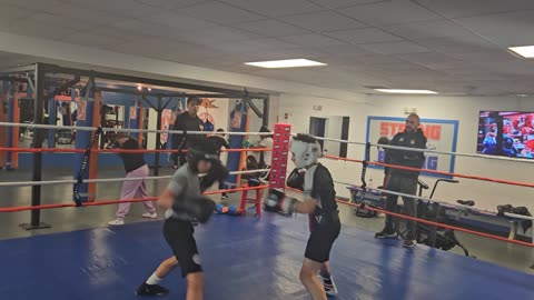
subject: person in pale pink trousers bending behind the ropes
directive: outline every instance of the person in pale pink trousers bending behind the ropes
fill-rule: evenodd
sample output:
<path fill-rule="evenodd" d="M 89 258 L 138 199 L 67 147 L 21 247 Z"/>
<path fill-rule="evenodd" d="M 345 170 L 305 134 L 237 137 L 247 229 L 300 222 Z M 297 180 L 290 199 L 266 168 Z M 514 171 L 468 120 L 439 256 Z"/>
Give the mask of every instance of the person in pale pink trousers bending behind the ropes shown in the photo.
<path fill-rule="evenodd" d="M 115 141 L 110 142 L 107 148 L 138 150 L 139 143 L 136 139 L 129 137 L 127 133 L 119 133 L 117 134 Z M 122 162 L 125 164 L 125 170 L 127 172 L 126 179 L 140 178 L 137 180 L 127 180 L 122 183 L 122 188 L 120 189 L 120 200 L 148 198 L 149 196 L 147 193 L 145 178 L 148 177 L 149 170 L 147 163 L 145 162 L 144 153 L 119 153 L 119 157 L 122 159 Z M 145 204 L 145 209 L 147 210 L 147 212 L 142 214 L 142 218 L 158 218 L 158 214 L 156 213 L 156 208 L 154 207 L 151 201 L 145 201 L 142 203 Z M 123 224 L 125 217 L 129 212 L 131 202 L 120 203 L 116 213 L 116 219 L 109 221 L 108 224 Z"/>

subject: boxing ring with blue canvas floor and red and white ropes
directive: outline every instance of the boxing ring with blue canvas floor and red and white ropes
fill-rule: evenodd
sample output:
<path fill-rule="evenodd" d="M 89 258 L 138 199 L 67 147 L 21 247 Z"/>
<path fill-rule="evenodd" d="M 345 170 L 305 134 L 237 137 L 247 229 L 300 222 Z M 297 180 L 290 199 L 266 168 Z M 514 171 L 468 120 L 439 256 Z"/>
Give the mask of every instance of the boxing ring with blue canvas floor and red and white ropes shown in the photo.
<path fill-rule="evenodd" d="M 139 130 L 113 129 L 113 131 Z M 195 134 L 195 132 L 188 133 Z M 236 134 L 236 132 L 226 133 Z M 257 132 L 238 134 L 257 134 Z M 75 151 L 72 149 L 8 150 Z M 276 149 L 271 150 L 276 151 Z M 168 150 L 98 149 L 93 151 L 168 152 Z M 247 151 L 247 149 L 231 149 L 231 151 Z M 326 157 L 326 159 L 340 158 Z M 354 162 L 363 161 L 354 160 Z M 260 170 L 254 170 L 254 172 L 258 171 Z M 247 171 L 236 173 L 244 172 Z M 454 176 L 462 177 L 462 174 Z M 285 172 L 283 177 L 285 178 Z M 150 177 L 147 180 L 166 181 L 168 178 Z M 83 180 L 83 182 L 95 183 L 102 181 L 120 182 L 123 178 Z M 75 179 L 0 182 L 0 186 L 73 184 L 76 182 L 78 180 Z M 510 182 L 506 183 L 510 184 Z M 532 188 L 532 184 L 525 186 L 530 183 L 518 183 L 518 186 Z M 265 188 L 267 187 L 241 187 L 210 191 L 208 194 Z M 394 193 L 387 190 L 378 191 Z M 152 200 L 156 198 L 126 201 Z M 0 212 L 65 207 L 85 209 L 83 207 L 115 204 L 121 201 L 125 200 L 99 199 L 81 204 L 72 200 L 68 203 L 58 201 L 53 204 L 0 208 Z M 338 202 L 353 207 L 359 206 L 342 200 Z M 389 213 L 380 209 L 375 210 Z M 397 217 L 407 218 L 402 214 Z M 417 221 L 432 224 L 427 220 L 417 219 Z M 146 278 L 147 272 L 156 268 L 158 261 L 171 254 L 161 234 L 161 221 L 148 221 L 121 227 L 0 240 L 0 251 L 3 254 L 3 268 L 0 271 L 2 299 L 136 299 L 135 289 Z M 455 229 L 503 242 L 533 247 L 528 242 L 471 232 L 462 228 Z M 239 218 L 215 214 L 207 224 L 197 226 L 195 230 L 205 268 L 206 299 L 310 299 L 298 280 L 309 232 L 307 216 L 297 214 L 294 218 L 287 218 L 264 212 L 260 218 L 249 216 Z M 333 276 L 339 290 L 339 294 L 332 299 L 534 299 L 534 284 L 532 284 L 534 276 L 532 274 L 425 246 L 407 250 L 402 247 L 402 240 L 377 240 L 373 236 L 373 232 L 343 226 L 330 256 Z M 180 278 L 179 272 L 170 273 L 162 284 L 171 292 L 158 298 L 185 298 L 186 281 Z"/>

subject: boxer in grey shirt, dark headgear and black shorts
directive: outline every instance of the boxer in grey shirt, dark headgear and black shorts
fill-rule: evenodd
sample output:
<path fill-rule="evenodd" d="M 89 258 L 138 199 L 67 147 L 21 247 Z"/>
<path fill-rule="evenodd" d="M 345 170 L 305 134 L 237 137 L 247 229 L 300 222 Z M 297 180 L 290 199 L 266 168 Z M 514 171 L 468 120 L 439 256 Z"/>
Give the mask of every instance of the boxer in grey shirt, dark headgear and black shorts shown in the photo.
<path fill-rule="evenodd" d="M 138 296 L 158 296 L 169 292 L 159 282 L 176 267 L 187 280 L 187 300 L 204 299 L 204 271 L 194 237 L 192 221 L 206 223 L 215 211 L 215 202 L 201 193 L 217 180 L 228 176 L 219 158 L 206 139 L 188 148 L 187 162 L 172 176 L 158 199 L 166 209 L 164 237 L 174 256 L 162 261 L 156 271 L 136 290 Z M 206 174 L 199 179 L 199 174 Z"/>

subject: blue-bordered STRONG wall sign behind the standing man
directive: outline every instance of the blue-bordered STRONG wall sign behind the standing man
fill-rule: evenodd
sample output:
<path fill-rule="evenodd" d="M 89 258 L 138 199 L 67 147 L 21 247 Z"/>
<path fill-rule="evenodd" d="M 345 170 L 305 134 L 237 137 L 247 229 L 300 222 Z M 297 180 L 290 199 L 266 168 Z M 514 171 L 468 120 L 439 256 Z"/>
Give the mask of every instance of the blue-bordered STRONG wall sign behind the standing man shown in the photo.
<path fill-rule="evenodd" d="M 404 131 L 405 120 L 406 118 L 368 117 L 366 141 L 376 144 L 380 137 L 387 137 L 392 140 L 397 132 Z M 419 128 L 423 130 L 427 139 L 426 149 L 456 152 L 456 139 L 458 134 L 457 120 L 421 119 Z M 384 162 L 384 149 L 372 147 L 370 161 Z M 454 156 L 426 152 L 423 169 L 453 173 L 454 162 Z M 370 167 L 376 168 L 376 166 Z M 423 174 L 441 178 L 451 177 L 426 172 L 423 172 Z"/>

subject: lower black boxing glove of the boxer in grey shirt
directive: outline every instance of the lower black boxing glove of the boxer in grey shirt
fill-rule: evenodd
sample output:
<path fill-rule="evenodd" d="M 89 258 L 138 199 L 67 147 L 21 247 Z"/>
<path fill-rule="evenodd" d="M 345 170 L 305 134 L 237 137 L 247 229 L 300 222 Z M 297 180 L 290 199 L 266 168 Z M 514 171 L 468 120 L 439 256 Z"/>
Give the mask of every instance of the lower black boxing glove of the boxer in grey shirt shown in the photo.
<path fill-rule="evenodd" d="M 185 212 L 200 223 L 206 223 L 214 214 L 215 209 L 214 200 L 202 196 L 175 199 L 172 204 L 172 210 L 177 214 Z"/>

